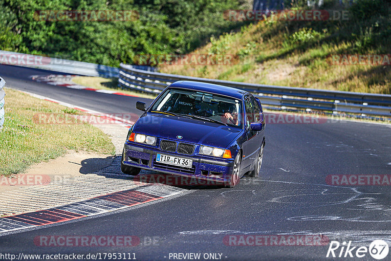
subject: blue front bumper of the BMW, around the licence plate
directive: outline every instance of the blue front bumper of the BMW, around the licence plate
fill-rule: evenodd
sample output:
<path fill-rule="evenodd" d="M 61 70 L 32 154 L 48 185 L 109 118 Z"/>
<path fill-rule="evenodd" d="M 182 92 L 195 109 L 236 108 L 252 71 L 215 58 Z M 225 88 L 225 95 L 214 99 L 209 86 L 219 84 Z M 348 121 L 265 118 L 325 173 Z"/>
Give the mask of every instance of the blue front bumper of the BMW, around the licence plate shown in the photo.
<path fill-rule="evenodd" d="M 191 158 L 193 160 L 193 166 L 189 169 L 156 162 L 157 153 Z M 210 159 L 196 154 L 186 155 L 176 152 L 166 152 L 158 148 L 150 148 L 127 142 L 124 146 L 123 164 L 141 169 L 212 181 L 209 182 L 209 184 L 214 184 L 214 182 L 226 183 L 231 180 L 234 159 Z"/>

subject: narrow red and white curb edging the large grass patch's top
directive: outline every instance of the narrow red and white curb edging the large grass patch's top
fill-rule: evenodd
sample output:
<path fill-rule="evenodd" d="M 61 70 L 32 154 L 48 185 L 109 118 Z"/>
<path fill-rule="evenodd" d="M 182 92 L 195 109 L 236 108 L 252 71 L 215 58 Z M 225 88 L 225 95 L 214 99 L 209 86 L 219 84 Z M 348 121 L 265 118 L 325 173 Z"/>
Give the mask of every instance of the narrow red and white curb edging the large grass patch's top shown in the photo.
<path fill-rule="evenodd" d="M 73 104 L 65 103 L 65 102 L 62 102 L 62 101 L 59 101 L 59 100 L 51 99 L 49 97 L 45 97 L 45 96 L 42 96 L 42 95 L 39 95 L 39 94 L 27 92 L 27 91 L 22 91 L 22 92 L 26 93 L 28 95 L 31 95 L 31 96 L 33 96 L 35 98 L 38 98 L 38 99 L 41 99 L 41 100 L 45 100 L 45 101 L 49 101 L 49 102 L 53 102 L 53 103 L 56 103 L 56 104 L 59 104 L 59 105 L 62 105 L 62 106 L 65 106 L 65 107 L 68 107 L 68 108 L 71 108 L 71 109 L 77 109 L 77 110 L 86 112 L 88 114 L 91 114 L 91 115 L 94 115 L 94 116 L 97 116 L 97 117 L 103 117 L 103 118 L 111 119 L 114 124 L 119 124 L 119 125 L 122 125 L 122 126 L 124 126 L 126 128 L 130 128 L 131 125 L 134 124 L 134 121 L 126 120 L 124 118 L 120 118 L 120 117 L 117 117 L 115 115 L 110 115 L 110 114 L 99 112 L 99 111 L 96 111 L 96 110 L 87 109 L 87 108 L 84 108 L 84 107 L 80 107 L 80 106 L 76 106 L 76 105 L 73 105 Z M 138 116 L 136 114 L 134 114 L 134 117 L 138 118 Z"/>

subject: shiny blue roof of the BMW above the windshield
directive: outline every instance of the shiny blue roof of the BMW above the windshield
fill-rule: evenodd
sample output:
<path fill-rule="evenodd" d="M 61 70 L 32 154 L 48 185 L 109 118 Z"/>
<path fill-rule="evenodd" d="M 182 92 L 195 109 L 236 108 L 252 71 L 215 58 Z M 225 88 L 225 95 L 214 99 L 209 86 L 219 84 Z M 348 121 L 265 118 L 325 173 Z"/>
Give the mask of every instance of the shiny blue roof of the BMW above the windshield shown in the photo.
<path fill-rule="evenodd" d="M 227 87 L 227 86 L 209 84 L 203 82 L 194 82 L 194 81 L 177 81 L 172 83 L 170 87 L 205 91 L 205 92 L 220 94 L 224 96 L 230 96 L 237 99 L 241 99 L 243 95 L 247 93 L 247 91 L 240 90 L 233 87 Z"/>

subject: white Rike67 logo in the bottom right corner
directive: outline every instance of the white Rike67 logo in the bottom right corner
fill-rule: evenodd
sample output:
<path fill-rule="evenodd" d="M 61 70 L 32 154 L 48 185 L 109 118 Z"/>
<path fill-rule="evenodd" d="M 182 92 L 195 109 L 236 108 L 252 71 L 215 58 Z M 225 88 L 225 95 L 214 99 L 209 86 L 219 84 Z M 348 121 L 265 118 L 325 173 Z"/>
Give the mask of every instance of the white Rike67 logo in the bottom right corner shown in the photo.
<path fill-rule="evenodd" d="M 351 241 L 344 241 L 342 244 L 338 241 L 331 241 L 327 250 L 326 258 L 363 258 L 369 255 L 377 260 L 384 259 L 387 257 L 389 247 L 386 241 L 377 239 L 370 243 L 369 247 L 367 246 L 351 246 Z"/>

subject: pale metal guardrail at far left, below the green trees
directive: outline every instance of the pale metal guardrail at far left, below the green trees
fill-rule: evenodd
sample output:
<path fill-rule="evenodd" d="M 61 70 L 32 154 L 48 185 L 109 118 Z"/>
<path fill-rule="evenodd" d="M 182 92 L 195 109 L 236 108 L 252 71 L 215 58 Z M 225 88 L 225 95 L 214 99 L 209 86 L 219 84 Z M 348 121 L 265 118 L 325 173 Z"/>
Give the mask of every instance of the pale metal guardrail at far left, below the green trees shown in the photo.
<path fill-rule="evenodd" d="M 0 50 L 0 64 L 39 68 L 85 76 L 100 76 L 105 78 L 118 77 L 119 72 L 118 68 L 106 65 L 97 65 L 61 58 L 51 58 L 2 50 Z"/>

